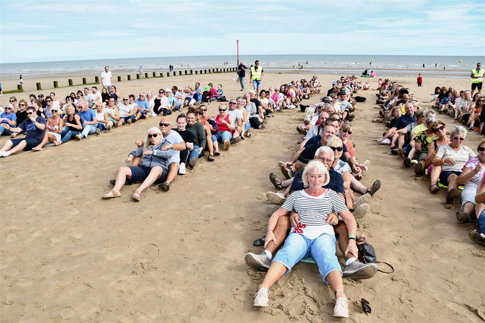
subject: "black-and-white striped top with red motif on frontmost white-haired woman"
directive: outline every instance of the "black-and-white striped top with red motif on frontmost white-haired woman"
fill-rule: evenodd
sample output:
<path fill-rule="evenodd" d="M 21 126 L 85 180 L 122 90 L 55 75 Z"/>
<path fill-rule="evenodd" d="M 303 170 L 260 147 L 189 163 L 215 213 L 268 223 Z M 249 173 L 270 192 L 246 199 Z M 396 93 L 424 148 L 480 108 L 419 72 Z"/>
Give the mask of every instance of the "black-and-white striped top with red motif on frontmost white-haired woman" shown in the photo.
<path fill-rule="evenodd" d="M 290 212 L 294 209 L 300 215 L 297 228 L 291 228 L 291 231 L 303 234 L 308 239 L 316 239 L 323 233 L 335 238 L 333 227 L 327 224 L 325 218 L 332 211 L 339 213 L 347 210 L 339 195 L 328 188 L 317 197 L 308 195 L 305 190 L 294 191 L 281 207 Z"/>

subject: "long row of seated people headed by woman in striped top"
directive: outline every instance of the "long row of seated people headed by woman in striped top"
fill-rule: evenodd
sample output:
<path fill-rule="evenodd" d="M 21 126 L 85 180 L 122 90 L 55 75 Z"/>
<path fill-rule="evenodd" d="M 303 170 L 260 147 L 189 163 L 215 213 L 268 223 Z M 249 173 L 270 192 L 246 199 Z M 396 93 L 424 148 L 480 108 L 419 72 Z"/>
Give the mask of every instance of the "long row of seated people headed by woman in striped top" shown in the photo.
<path fill-rule="evenodd" d="M 381 187 L 380 180 L 360 182 L 370 161 L 359 162 L 350 140 L 357 108 L 352 95 L 360 87 L 357 77 L 341 77 L 318 104 L 300 104 L 303 124 L 297 131 L 305 137 L 298 140 L 290 161 L 278 163 L 283 177 L 269 174 L 268 184 L 278 192 L 267 192 L 273 204 L 266 207 L 266 235 L 253 242 L 263 250 L 245 256 L 250 267 L 267 271 L 255 307 L 268 306 L 270 288 L 278 278 L 312 257 L 335 293 L 334 316 L 348 317 L 342 277 L 366 279 L 377 272 L 375 263 L 357 260 L 356 244 L 366 237 L 357 232 L 356 223 L 369 212 L 372 196 Z M 343 270 L 336 256 L 337 240 L 345 258 Z"/>

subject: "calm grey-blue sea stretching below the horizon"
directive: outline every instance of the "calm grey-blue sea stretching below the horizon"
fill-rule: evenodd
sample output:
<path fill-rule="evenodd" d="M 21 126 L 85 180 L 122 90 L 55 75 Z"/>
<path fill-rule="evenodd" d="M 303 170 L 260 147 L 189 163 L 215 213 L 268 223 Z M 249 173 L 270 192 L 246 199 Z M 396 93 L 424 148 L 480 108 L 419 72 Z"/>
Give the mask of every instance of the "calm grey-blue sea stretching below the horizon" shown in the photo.
<path fill-rule="evenodd" d="M 484 62 L 480 56 L 398 56 L 398 55 L 241 55 L 239 62 L 246 66 L 259 60 L 260 65 L 268 70 L 325 71 L 339 73 L 346 71 L 361 74 L 368 69 L 380 70 L 379 76 L 416 76 L 422 73 L 429 77 L 469 77 L 468 71 L 476 67 L 477 62 Z M 227 64 L 226 64 L 227 63 Z M 100 59 L 57 62 L 23 62 L 0 63 L 0 77 L 11 78 L 23 76 L 42 76 L 55 74 L 99 74 L 108 65 L 114 73 L 137 73 L 143 66 L 144 72 L 168 71 L 169 65 L 174 70 L 200 70 L 205 68 L 236 67 L 238 58 L 235 55 L 220 56 L 178 56 L 178 57 L 145 57 L 123 59 Z M 424 64 L 424 68 L 423 68 Z M 293 67 L 294 66 L 294 67 Z M 443 67 L 446 71 L 443 72 Z"/>

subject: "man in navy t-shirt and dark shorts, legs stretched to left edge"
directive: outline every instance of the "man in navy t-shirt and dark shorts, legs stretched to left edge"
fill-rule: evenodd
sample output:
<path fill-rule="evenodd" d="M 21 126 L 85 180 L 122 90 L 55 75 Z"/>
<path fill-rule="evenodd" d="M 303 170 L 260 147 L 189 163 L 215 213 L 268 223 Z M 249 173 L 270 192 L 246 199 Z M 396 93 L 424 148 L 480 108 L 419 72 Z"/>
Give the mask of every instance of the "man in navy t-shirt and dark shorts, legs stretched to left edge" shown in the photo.
<path fill-rule="evenodd" d="M 18 125 L 11 127 L 7 123 L 1 123 L 2 127 L 7 128 L 13 133 L 27 132 L 24 139 L 9 139 L 0 149 L 0 157 L 7 157 L 22 150 L 32 150 L 44 138 L 46 132 L 46 119 L 37 116 L 35 108 L 27 108 L 27 119 Z"/>

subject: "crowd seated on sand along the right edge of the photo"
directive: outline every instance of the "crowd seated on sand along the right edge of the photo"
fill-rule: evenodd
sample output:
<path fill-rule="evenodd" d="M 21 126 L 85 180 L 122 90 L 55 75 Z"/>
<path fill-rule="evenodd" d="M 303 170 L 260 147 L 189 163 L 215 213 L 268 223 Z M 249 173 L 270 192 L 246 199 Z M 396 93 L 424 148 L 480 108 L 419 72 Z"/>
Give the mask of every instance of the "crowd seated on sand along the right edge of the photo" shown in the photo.
<path fill-rule="evenodd" d="M 417 177 L 428 176 L 432 193 L 446 188 L 446 208 L 454 208 L 461 197 L 456 219 L 459 224 L 475 223 L 469 237 L 485 245 L 485 206 L 479 199 L 485 189 L 485 138 L 478 146 L 467 146 L 468 132 L 485 134 L 485 98 L 480 92 L 471 97 L 469 90 L 453 86 L 436 87 L 432 95 L 431 100 L 421 101 L 430 104 L 425 109 L 397 82 L 380 84 L 376 104 L 388 131 L 374 141 L 403 156 L 404 167 L 414 164 Z"/>

